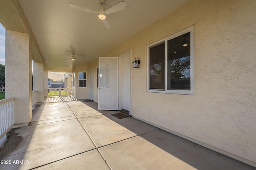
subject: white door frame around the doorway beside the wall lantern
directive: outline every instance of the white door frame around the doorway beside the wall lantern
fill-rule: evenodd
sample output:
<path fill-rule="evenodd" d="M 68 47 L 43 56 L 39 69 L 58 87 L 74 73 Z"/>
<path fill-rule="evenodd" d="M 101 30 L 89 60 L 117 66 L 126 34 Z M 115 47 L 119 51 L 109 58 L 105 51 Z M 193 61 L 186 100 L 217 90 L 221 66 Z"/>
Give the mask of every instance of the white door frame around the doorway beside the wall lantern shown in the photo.
<path fill-rule="evenodd" d="M 118 79 L 119 79 L 119 84 L 118 84 L 118 110 L 122 109 L 122 57 L 124 57 L 124 55 L 130 54 L 130 110 L 129 110 L 129 114 L 132 115 L 132 49 L 118 55 L 118 60 L 119 60 L 119 64 L 118 64 Z"/>

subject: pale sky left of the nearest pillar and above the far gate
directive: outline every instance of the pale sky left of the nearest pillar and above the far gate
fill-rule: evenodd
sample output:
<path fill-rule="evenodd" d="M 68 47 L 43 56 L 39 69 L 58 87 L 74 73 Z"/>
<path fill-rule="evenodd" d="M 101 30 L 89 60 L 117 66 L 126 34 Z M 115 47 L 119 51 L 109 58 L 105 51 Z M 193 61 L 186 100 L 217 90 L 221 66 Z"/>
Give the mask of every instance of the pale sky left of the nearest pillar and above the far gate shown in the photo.
<path fill-rule="evenodd" d="M 0 64 L 5 65 L 5 28 L 0 23 Z M 48 72 L 48 78 L 54 80 L 64 79 L 64 72 Z"/>

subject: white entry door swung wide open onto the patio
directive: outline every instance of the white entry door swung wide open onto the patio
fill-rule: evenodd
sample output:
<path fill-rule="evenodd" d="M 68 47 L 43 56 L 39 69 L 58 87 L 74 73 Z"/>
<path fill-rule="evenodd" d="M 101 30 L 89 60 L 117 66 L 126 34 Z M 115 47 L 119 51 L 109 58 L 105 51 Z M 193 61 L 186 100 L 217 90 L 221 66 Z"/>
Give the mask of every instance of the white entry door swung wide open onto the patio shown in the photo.
<path fill-rule="evenodd" d="M 118 110 L 118 57 L 99 57 L 99 110 Z"/>

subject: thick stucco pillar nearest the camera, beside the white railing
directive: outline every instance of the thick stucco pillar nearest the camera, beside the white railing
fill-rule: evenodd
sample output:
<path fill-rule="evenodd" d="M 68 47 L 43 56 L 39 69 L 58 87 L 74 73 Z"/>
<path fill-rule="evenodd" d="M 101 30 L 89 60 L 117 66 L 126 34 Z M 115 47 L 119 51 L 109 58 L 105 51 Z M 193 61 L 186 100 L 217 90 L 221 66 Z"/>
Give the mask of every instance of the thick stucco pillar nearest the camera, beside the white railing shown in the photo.
<path fill-rule="evenodd" d="M 6 98 L 15 97 L 14 123 L 32 119 L 32 56 L 27 33 L 6 30 Z"/>

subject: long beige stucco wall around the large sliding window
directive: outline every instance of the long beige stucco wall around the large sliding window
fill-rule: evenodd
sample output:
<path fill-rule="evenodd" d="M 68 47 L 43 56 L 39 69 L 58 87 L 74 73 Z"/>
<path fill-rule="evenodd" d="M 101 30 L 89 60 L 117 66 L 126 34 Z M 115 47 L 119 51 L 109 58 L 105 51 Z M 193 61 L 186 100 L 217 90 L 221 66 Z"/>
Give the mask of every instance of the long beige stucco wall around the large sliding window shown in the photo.
<path fill-rule="evenodd" d="M 255 16 L 255 0 L 189 0 L 106 53 L 140 59 L 133 116 L 256 166 Z M 195 95 L 146 92 L 147 45 L 192 25 Z"/>

